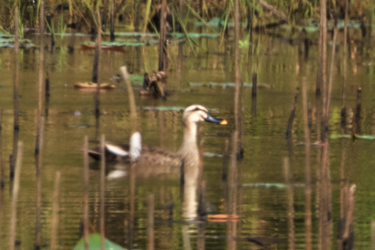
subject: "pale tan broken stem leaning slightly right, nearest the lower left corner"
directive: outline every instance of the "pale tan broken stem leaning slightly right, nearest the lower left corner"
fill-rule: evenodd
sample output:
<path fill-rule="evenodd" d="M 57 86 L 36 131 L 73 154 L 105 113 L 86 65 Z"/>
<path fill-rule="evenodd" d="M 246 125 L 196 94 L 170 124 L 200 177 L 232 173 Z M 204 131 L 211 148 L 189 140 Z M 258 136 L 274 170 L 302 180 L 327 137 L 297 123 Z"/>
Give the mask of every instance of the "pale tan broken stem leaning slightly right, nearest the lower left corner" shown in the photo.
<path fill-rule="evenodd" d="M 18 193 L 20 191 L 20 175 L 21 175 L 21 165 L 23 158 L 23 142 L 18 142 L 18 152 L 15 165 L 15 175 L 12 190 L 12 202 L 10 204 L 10 228 L 9 228 L 9 250 L 14 250 L 14 242 L 16 238 L 16 225 L 17 225 L 17 200 Z"/>

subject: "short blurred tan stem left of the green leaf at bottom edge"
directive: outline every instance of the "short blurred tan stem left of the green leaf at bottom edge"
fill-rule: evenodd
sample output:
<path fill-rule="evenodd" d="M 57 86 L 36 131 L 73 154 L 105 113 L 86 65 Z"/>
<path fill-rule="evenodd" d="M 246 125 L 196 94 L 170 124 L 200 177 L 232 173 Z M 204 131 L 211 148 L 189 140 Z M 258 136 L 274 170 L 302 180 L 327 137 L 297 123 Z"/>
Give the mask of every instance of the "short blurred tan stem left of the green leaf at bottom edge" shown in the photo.
<path fill-rule="evenodd" d="M 52 199 L 52 217 L 51 217 L 51 250 L 57 249 L 57 227 L 58 227 L 58 187 L 60 186 L 60 171 L 55 175 L 55 186 Z"/>

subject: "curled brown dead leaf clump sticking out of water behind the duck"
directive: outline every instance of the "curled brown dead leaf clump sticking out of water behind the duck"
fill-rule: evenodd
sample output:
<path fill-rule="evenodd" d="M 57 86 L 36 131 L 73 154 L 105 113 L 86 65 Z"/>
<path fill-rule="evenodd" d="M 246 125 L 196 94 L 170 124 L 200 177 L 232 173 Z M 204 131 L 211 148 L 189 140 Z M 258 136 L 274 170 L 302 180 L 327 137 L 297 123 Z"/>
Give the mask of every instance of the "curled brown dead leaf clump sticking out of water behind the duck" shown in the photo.
<path fill-rule="evenodd" d="M 153 72 L 150 76 L 145 72 L 143 76 L 143 88 L 139 91 L 141 96 L 161 97 L 166 100 L 168 93 L 165 91 L 167 75 L 164 71 Z"/>

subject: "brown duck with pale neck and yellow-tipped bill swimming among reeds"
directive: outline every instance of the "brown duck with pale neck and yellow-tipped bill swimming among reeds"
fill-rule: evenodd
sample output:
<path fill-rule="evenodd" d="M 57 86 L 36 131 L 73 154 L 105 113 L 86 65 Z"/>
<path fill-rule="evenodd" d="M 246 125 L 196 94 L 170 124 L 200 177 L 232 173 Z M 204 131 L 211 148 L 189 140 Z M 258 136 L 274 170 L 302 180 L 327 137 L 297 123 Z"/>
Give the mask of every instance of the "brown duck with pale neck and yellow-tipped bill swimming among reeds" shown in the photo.
<path fill-rule="evenodd" d="M 130 145 L 106 143 L 106 161 L 131 162 L 135 164 L 136 175 L 141 177 L 176 175 L 181 173 L 181 169 L 184 169 L 184 180 L 196 180 L 199 166 L 198 124 L 208 122 L 226 125 L 228 122 L 225 119 L 215 117 L 208 112 L 207 108 L 197 104 L 190 105 L 184 109 L 182 120 L 183 140 L 178 151 L 174 152 L 159 147 L 142 145 L 140 142 L 141 136 L 136 134 L 135 137 L 132 136 L 133 139 L 130 140 Z M 135 150 L 131 152 L 130 148 L 135 148 Z M 136 153 L 137 150 L 139 153 Z M 89 156 L 96 160 L 101 157 L 97 150 L 90 150 Z"/>

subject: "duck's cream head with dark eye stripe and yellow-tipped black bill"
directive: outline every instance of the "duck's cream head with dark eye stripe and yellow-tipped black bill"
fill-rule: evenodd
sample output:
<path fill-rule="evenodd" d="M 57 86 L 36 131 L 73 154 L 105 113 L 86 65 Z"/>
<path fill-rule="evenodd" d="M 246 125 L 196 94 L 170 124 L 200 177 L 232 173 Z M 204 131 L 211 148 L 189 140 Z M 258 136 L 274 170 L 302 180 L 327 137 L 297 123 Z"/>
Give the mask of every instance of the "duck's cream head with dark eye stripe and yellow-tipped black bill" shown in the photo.
<path fill-rule="evenodd" d="M 225 125 L 228 122 L 226 120 L 220 119 L 212 115 L 204 106 L 201 105 L 191 105 L 187 107 L 183 114 L 182 118 L 185 124 L 198 123 L 201 121 L 207 121 L 210 123 L 217 123 Z"/>

